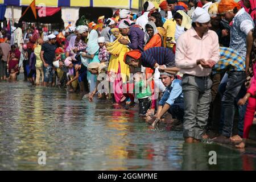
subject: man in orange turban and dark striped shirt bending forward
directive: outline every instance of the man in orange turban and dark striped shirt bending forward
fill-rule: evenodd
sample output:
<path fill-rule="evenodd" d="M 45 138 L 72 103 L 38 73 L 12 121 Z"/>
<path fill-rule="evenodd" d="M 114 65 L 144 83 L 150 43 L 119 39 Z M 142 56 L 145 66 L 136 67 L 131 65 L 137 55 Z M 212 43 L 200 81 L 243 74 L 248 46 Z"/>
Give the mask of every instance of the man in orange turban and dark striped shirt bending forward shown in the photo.
<path fill-rule="evenodd" d="M 152 47 L 143 53 L 139 50 L 127 52 L 125 63 L 131 67 L 139 68 L 141 65 L 147 68 L 158 68 L 160 65 L 175 67 L 175 55 L 171 49 L 164 47 Z"/>

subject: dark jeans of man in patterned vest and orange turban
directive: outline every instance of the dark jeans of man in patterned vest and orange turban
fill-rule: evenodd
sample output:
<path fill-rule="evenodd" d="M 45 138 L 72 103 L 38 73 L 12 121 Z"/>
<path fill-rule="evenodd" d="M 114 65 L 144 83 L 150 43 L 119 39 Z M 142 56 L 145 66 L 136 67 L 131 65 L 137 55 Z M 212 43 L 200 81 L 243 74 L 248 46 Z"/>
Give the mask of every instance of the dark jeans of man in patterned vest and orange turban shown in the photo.
<path fill-rule="evenodd" d="M 243 83 L 245 82 L 245 72 L 228 72 L 228 82 L 226 90 L 222 98 L 222 106 L 224 111 L 224 126 L 222 135 L 232 137 L 232 129 L 234 122 L 235 107 L 234 102 L 238 97 Z"/>

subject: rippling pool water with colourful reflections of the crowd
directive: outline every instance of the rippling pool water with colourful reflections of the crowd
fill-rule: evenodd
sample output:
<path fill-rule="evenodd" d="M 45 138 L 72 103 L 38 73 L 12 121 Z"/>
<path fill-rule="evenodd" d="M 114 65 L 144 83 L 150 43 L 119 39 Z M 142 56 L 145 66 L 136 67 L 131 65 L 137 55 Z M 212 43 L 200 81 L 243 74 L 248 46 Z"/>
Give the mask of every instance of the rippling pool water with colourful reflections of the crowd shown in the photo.
<path fill-rule="evenodd" d="M 0 169 L 254 170 L 253 154 L 217 144 L 184 144 L 181 131 L 151 130 L 110 101 L 0 82 Z M 46 151 L 46 165 L 38 152 Z M 209 151 L 217 152 L 210 165 Z"/>

